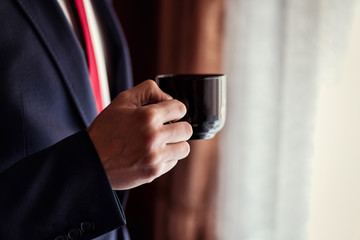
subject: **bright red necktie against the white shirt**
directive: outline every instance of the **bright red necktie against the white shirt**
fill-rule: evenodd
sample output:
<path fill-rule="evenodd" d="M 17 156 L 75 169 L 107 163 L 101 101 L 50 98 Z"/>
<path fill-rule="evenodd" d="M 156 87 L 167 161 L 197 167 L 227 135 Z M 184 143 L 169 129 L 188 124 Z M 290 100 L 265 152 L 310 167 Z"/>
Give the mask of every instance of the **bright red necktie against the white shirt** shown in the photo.
<path fill-rule="evenodd" d="M 90 75 L 90 83 L 95 96 L 96 108 L 98 113 L 102 111 L 102 99 L 101 99 L 101 89 L 100 89 L 100 81 L 99 74 L 96 65 L 95 52 L 91 40 L 90 29 L 88 25 L 88 21 L 86 18 L 86 12 L 84 7 L 83 0 L 75 0 L 76 8 L 78 10 L 79 19 L 82 26 L 82 31 L 85 39 L 88 67 L 89 67 L 89 75 Z"/>

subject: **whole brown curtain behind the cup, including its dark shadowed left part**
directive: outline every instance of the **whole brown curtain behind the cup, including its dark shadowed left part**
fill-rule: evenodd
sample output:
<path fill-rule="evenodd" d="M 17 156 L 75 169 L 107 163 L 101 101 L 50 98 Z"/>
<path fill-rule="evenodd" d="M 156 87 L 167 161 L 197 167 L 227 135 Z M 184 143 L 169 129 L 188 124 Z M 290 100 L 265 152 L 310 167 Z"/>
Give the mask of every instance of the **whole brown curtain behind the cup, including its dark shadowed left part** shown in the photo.
<path fill-rule="evenodd" d="M 222 72 L 223 1 L 116 1 L 135 82 L 162 73 Z M 134 239 L 216 239 L 218 141 L 192 141 L 188 158 L 131 191 L 126 214 Z"/>

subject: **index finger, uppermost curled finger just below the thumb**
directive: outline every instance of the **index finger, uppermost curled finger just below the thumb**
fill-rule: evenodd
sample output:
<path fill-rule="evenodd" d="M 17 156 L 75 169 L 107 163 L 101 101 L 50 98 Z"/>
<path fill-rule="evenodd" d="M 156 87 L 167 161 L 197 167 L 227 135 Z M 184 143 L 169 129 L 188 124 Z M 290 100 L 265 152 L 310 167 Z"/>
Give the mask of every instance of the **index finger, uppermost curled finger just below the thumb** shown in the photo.
<path fill-rule="evenodd" d="M 175 122 L 184 117 L 187 111 L 185 105 L 178 100 L 169 100 L 156 104 L 150 104 L 143 106 L 143 108 L 153 108 L 153 110 L 156 111 L 161 124 L 170 121 Z"/>

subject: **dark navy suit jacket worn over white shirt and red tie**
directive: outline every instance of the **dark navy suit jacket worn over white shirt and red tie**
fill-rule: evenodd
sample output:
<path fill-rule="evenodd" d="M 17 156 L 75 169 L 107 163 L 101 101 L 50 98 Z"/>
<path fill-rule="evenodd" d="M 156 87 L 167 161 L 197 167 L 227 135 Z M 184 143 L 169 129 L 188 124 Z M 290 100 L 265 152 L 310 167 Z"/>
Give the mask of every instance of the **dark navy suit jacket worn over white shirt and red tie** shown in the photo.
<path fill-rule="evenodd" d="M 115 97 L 131 86 L 128 52 L 110 1 L 92 2 Z M 96 115 L 56 0 L 1 0 L 0 239 L 91 239 L 125 224 L 124 192 L 112 191 L 85 131 Z"/>

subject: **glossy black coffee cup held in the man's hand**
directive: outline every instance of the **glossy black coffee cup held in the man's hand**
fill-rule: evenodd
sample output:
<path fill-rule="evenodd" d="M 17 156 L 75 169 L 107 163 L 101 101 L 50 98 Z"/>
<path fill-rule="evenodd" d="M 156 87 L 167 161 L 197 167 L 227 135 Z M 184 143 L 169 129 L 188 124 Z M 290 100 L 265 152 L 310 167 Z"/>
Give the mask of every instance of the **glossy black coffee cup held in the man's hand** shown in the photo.
<path fill-rule="evenodd" d="M 224 74 L 168 74 L 156 77 L 160 89 L 185 104 L 191 139 L 209 139 L 222 129 L 226 117 Z"/>

